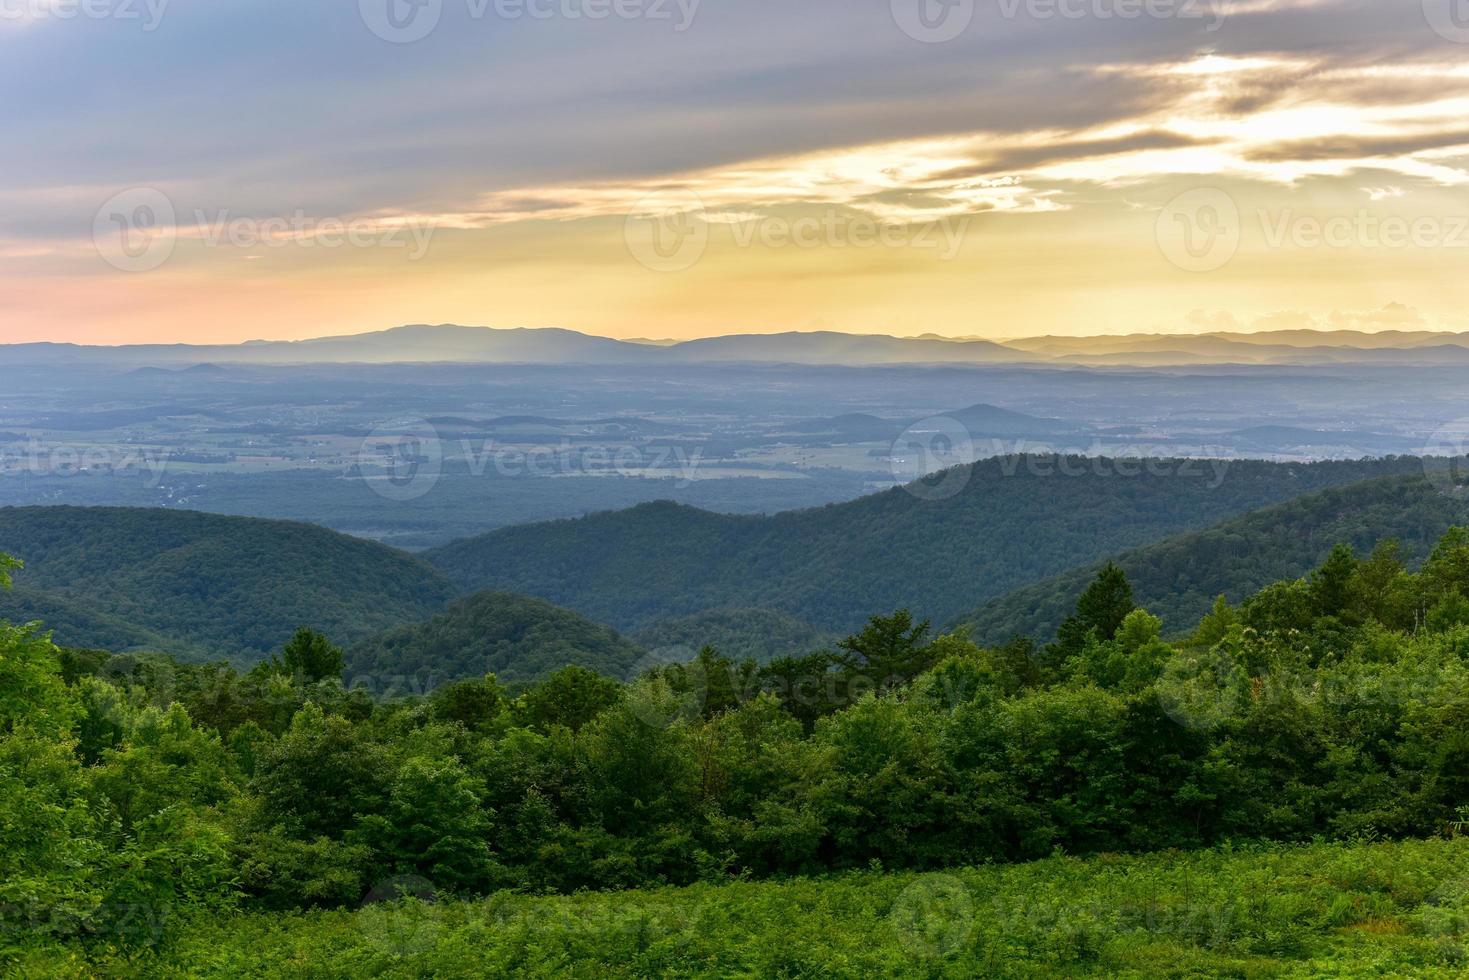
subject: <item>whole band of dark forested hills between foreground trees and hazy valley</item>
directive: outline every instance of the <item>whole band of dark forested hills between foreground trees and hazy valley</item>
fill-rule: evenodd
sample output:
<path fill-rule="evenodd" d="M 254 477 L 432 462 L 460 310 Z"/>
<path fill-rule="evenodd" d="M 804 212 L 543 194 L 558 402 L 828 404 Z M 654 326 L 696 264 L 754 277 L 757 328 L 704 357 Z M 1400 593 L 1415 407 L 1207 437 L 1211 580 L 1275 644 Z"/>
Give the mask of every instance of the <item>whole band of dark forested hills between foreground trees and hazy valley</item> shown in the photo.
<path fill-rule="evenodd" d="M 1412 458 L 1237 461 L 1222 476 L 1127 476 L 1115 460 L 1068 475 L 1068 463 L 1083 461 L 989 460 L 771 517 L 646 504 L 422 557 L 278 520 L 0 508 L 0 551 L 26 561 L 0 619 L 40 620 L 68 646 L 241 664 L 311 626 L 348 648 L 353 673 L 420 685 L 567 664 L 626 677 L 646 651 L 808 652 L 900 607 L 984 642 L 1043 641 L 1103 560 L 1181 629 L 1216 595 L 1304 574 L 1338 542 L 1393 538 L 1412 561 L 1469 523 L 1469 500 L 1440 492 Z M 959 492 L 924 498 L 956 473 Z"/>

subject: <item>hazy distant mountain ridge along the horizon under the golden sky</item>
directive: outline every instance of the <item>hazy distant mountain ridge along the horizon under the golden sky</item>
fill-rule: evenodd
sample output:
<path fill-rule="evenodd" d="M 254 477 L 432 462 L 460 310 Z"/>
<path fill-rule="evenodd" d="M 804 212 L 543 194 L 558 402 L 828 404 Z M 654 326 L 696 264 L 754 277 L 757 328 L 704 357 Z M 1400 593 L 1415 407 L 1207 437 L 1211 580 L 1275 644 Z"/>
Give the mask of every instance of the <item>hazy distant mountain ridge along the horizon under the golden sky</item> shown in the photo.
<path fill-rule="evenodd" d="M 649 344 L 564 328 L 407 325 L 304 341 L 245 344 L 0 345 L 12 364 L 109 364 L 131 369 L 308 363 L 544 363 L 544 364 L 1469 364 L 1469 334 L 1398 331 L 1275 331 L 1265 334 L 1134 334 L 1037 336 L 1012 341 L 889 336 L 836 331 L 732 334 Z"/>

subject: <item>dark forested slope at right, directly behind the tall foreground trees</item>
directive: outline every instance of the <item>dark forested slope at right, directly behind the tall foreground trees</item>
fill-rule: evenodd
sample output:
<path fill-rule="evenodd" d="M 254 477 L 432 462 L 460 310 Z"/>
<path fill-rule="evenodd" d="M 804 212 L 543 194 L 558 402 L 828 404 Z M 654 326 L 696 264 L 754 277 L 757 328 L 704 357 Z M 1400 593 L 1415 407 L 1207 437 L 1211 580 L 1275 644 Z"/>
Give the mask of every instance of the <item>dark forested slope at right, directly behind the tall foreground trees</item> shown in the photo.
<path fill-rule="evenodd" d="M 1137 604 L 1161 616 L 1166 632 L 1191 630 L 1219 595 L 1231 602 L 1266 585 L 1299 579 L 1338 544 L 1366 555 L 1397 541 L 1400 558 L 1428 555 L 1448 527 L 1469 523 L 1469 497 L 1450 497 L 1422 478 L 1381 478 L 1307 494 L 1227 520 L 1200 532 L 1174 535 L 1115 557 L 1133 583 Z M 1015 635 L 1047 641 L 1096 577 L 1086 564 L 1022 586 L 962 617 L 975 642 L 1000 644 Z"/>

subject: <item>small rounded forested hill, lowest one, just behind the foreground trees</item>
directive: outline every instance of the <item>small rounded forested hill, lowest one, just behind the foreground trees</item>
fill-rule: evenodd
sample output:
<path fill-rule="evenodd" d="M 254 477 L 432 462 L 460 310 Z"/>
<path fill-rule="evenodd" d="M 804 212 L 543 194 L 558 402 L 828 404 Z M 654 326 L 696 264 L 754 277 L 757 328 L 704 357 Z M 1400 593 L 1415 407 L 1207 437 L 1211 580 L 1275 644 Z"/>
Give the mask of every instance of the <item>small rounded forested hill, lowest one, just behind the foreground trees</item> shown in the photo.
<path fill-rule="evenodd" d="M 479 592 L 427 621 L 358 644 L 347 664 L 350 677 L 411 677 L 425 689 L 486 673 L 533 680 L 567 666 L 621 680 L 642 655 L 610 626 L 544 599 Z"/>

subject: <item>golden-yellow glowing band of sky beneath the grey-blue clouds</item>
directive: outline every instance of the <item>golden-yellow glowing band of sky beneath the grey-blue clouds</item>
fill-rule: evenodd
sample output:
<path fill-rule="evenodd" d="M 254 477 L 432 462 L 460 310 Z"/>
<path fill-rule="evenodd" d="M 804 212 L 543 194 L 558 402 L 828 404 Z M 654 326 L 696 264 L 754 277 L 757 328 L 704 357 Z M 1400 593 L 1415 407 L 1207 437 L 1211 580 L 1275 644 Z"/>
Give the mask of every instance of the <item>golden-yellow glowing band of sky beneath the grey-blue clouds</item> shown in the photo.
<path fill-rule="evenodd" d="M 403 323 L 624 339 L 1114 336 L 1282 322 L 1465 331 L 1469 62 L 1454 53 L 1365 63 L 1203 48 L 1078 63 L 1064 69 L 1077 85 L 1121 85 L 1131 101 L 1075 125 L 1008 120 L 727 151 L 632 176 L 458 182 L 432 207 L 339 217 L 209 209 L 191 181 L 137 184 L 176 212 L 167 262 L 112 269 L 91 226 L 0 235 L 0 342 L 301 339 Z M 1199 191 L 1221 194 L 1238 220 L 1237 250 L 1203 272 L 1159 241 L 1172 203 Z M 87 215 L 113 194 L 95 182 L 10 188 L 0 210 Z M 238 241 L 237 219 L 248 232 Z M 693 222 L 693 260 L 639 256 L 630 222 L 673 219 Z M 1412 241 L 1381 235 L 1384 222 L 1413 229 Z M 342 226 L 363 241 L 332 245 Z"/>

